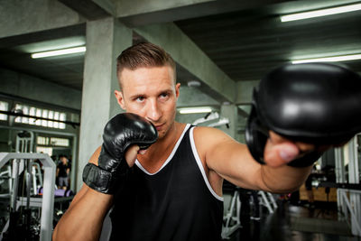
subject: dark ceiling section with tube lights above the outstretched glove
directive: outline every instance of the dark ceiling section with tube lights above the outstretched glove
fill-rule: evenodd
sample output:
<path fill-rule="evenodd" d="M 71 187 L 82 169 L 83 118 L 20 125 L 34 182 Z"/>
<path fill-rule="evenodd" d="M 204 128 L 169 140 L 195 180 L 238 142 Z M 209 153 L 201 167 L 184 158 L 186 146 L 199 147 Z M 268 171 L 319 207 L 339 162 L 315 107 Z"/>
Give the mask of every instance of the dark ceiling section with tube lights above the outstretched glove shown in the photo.
<path fill-rule="evenodd" d="M 274 11 L 251 9 L 176 24 L 235 81 L 261 79 L 290 60 L 361 53 L 361 11 L 281 23 Z M 361 60 L 347 64 L 361 72 Z"/>

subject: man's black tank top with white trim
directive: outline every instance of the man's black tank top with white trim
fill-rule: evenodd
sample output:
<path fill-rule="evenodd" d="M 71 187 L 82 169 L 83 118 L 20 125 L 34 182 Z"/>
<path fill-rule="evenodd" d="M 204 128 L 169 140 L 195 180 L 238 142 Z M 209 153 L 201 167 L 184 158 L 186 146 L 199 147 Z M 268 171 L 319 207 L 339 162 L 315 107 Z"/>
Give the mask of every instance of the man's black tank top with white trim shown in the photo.
<path fill-rule="evenodd" d="M 221 240 L 223 198 L 209 185 L 187 125 L 156 173 L 135 162 L 110 214 L 110 240 Z"/>

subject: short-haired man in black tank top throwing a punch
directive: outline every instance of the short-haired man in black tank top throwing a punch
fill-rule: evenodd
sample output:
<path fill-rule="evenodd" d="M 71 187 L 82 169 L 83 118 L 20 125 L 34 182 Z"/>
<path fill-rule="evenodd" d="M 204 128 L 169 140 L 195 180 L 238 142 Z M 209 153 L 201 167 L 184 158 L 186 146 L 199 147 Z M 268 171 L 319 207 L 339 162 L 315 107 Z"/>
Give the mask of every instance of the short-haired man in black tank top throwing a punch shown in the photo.
<path fill-rule="evenodd" d="M 310 173 L 311 167 L 287 163 L 314 149 L 312 144 L 294 143 L 271 132 L 264 148 L 266 165 L 261 165 L 245 144 L 218 129 L 175 122 L 180 84 L 174 61 L 160 47 L 140 43 L 123 51 L 117 59 L 117 76 L 118 104 L 152 123 L 158 140 L 146 151 L 137 144 L 125 149 L 132 168 L 116 182 L 119 188 L 114 192 L 101 191 L 94 178 L 88 181 L 88 173 L 102 178 L 96 170 L 105 156 L 102 171 L 117 162 L 108 157 L 112 152 L 104 144 L 99 147 L 84 178 L 91 188 L 83 185 L 79 190 L 53 240 L 97 240 L 113 205 L 112 240 L 219 240 L 224 179 L 245 189 L 285 193 L 301 186 Z"/>

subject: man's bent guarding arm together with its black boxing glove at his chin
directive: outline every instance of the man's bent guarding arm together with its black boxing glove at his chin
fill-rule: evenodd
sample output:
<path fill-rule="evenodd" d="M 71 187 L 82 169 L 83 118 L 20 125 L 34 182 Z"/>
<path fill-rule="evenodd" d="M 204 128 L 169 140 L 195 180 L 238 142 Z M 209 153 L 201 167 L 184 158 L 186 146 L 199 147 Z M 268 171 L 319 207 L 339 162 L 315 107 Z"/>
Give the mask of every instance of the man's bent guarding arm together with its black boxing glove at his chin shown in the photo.
<path fill-rule="evenodd" d="M 60 219 L 53 240 L 97 240 L 113 202 L 113 195 L 133 166 L 140 144 L 144 149 L 155 143 L 158 133 L 145 118 L 131 113 L 118 114 L 104 128 L 103 144 L 83 171 L 83 185 Z"/>

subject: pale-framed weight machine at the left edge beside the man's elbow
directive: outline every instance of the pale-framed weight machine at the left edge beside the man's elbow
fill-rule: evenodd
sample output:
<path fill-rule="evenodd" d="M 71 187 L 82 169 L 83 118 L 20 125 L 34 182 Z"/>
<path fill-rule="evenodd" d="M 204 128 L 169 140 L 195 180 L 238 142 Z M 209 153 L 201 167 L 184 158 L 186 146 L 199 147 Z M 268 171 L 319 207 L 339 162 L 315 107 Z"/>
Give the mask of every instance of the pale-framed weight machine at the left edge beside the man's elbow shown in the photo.
<path fill-rule="evenodd" d="M 9 181 L 9 192 L 2 195 L 2 201 L 7 204 L 10 199 L 10 214 L 0 240 L 51 240 L 56 165 L 47 154 L 31 153 L 32 132 L 19 132 L 15 148 L 16 153 L 0 153 L 0 168 L 8 164 L 3 172 Z M 41 166 L 34 160 L 42 163 L 44 181 Z M 42 196 L 37 195 L 40 186 Z"/>

